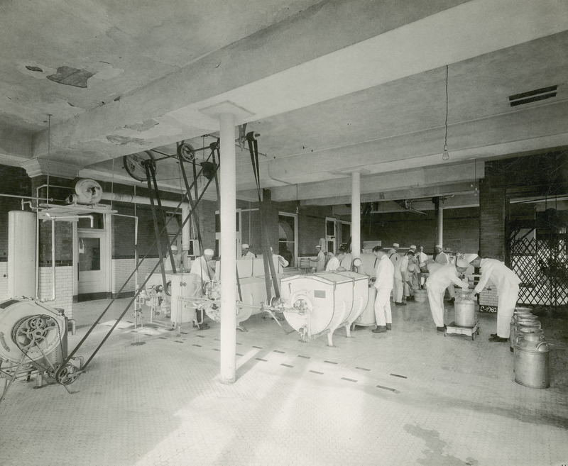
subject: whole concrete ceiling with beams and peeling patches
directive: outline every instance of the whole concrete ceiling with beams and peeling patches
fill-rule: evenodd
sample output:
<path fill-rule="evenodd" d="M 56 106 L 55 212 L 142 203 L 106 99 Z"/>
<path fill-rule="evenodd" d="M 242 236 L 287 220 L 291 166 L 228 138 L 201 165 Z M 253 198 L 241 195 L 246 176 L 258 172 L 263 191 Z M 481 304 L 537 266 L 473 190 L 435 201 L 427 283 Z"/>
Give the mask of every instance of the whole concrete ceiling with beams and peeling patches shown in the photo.
<path fill-rule="evenodd" d="M 484 161 L 568 147 L 564 0 L 13 1 L 0 38 L 0 163 L 30 174 L 136 184 L 122 156 L 209 145 L 223 101 L 251 113 L 278 201 L 349 203 L 356 170 L 363 201 L 475 205 Z M 246 149 L 237 174 L 254 199 Z M 175 161 L 158 179 L 179 189 Z"/>

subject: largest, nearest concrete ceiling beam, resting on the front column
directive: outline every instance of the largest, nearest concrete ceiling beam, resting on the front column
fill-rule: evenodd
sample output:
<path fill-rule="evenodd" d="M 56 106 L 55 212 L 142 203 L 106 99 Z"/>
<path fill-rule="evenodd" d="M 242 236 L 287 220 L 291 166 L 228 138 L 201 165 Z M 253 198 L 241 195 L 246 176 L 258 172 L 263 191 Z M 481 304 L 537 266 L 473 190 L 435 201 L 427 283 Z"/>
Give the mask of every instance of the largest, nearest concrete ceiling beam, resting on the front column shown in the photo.
<path fill-rule="evenodd" d="M 54 156 L 60 149 L 81 150 L 90 143 L 107 157 L 138 152 L 155 147 L 158 140 L 164 144 L 182 134 L 191 138 L 217 129 L 217 122 L 199 110 L 220 101 L 250 109 L 253 121 L 568 28 L 562 0 L 440 0 L 413 7 L 414 12 L 409 7 L 389 18 L 385 11 L 397 11 L 400 2 L 317 4 L 120 101 L 55 123 Z M 383 24 L 387 26 L 378 26 Z M 330 25 L 335 25 L 333 34 Z M 162 117 L 148 131 L 126 128 Z M 45 153 L 44 131 L 33 155 Z"/>

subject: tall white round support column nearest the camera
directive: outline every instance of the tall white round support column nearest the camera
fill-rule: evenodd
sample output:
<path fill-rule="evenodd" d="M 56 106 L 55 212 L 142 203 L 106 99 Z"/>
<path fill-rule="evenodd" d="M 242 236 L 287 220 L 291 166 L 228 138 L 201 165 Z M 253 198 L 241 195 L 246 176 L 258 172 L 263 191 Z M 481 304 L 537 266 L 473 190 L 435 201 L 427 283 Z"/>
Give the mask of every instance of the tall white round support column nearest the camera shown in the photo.
<path fill-rule="evenodd" d="M 221 125 L 219 195 L 221 222 L 221 382 L 235 381 L 236 353 L 236 163 L 235 116 L 219 115 Z"/>

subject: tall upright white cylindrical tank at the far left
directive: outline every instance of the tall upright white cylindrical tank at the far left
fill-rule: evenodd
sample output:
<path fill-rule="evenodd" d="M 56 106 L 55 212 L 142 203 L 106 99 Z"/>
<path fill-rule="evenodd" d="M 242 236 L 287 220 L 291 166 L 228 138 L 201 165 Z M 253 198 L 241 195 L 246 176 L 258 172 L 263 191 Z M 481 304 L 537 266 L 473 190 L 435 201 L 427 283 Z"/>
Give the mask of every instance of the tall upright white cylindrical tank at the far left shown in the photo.
<path fill-rule="evenodd" d="M 8 213 L 8 297 L 35 298 L 35 213 Z"/>

